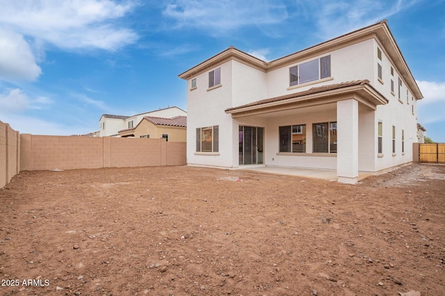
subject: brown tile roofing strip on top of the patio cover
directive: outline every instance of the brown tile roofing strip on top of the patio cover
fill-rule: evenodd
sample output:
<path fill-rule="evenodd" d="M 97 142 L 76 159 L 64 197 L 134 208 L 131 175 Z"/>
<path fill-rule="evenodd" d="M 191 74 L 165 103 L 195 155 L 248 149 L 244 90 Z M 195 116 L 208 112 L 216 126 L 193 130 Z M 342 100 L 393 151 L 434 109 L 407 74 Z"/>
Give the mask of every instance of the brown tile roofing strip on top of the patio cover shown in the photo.
<path fill-rule="evenodd" d="M 318 94 L 321 92 L 327 92 L 327 91 L 334 90 L 334 89 L 341 89 L 343 87 L 352 87 L 352 86 L 356 86 L 356 85 L 369 85 L 369 80 L 354 80 L 354 81 L 336 83 L 333 85 L 322 85 L 321 87 L 312 87 L 312 88 L 310 88 L 306 91 L 303 91 L 303 92 L 297 92 L 294 94 L 286 94 L 284 96 L 276 96 L 274 98 L 266 98 L 265 100 L 257 101 L 254 103 L 228 108 L 225 111 L 227 112 L 227 111 L 232 111 L 232 110 L 236 110 L 236 109 L 241 109 L 243 107 L 251 107 L 251 106 L 256 106 L 256 105 L 261 105 L 261 104 L 266 104 L 266 103 L 284 101 L 288 98 L 297 98 L 299 96 L 306 96 L 309 94 Z"/>

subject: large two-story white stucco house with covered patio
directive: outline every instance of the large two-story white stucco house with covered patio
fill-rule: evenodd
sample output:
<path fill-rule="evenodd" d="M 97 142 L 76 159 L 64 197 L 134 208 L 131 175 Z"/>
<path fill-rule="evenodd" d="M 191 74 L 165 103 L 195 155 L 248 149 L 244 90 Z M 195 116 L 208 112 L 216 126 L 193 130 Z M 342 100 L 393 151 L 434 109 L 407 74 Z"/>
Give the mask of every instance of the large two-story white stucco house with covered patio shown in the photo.
<path fill-rule="evenodd" d="M 233 46 L 188 83 L 187 163 L 337 170 L 412 162 L 421 91 L 387 21 L 264 62 Z"/>

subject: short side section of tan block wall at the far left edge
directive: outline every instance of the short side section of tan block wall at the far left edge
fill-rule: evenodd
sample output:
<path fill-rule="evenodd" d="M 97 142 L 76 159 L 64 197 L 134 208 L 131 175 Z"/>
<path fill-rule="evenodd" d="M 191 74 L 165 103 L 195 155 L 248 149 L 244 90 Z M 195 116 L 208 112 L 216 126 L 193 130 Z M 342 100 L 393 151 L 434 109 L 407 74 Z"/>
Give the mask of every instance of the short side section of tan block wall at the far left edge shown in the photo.
<path fill-rule="evenodd" d="M 20 171 L 20 134 L 0 121 L 0 188 Z"/>

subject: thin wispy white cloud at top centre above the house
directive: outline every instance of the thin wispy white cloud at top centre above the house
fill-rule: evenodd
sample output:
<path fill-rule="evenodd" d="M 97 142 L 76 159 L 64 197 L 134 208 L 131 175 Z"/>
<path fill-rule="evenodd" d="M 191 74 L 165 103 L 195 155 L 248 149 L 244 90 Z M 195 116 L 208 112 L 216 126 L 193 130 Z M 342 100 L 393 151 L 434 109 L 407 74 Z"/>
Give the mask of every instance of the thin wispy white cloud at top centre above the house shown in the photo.
<path fill-rule="evenodd" d="M 176 0 L 163 15 L 176 19 L 179 27 L 195 27 L 212 35 L 242 26 L 277 24 L 287 18 L 286 6 L 277 1 Z"/>

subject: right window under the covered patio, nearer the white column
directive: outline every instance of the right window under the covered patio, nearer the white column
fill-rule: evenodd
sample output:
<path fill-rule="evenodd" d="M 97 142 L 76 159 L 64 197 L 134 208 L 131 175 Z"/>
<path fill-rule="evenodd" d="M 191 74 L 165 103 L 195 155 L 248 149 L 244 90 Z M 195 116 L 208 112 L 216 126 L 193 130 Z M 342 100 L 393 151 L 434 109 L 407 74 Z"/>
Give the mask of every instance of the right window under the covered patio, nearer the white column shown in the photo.
<path fill-rule="evenodd" d="M 314 153 L 337 153 L 337 122 L 312 125 Z"/>

